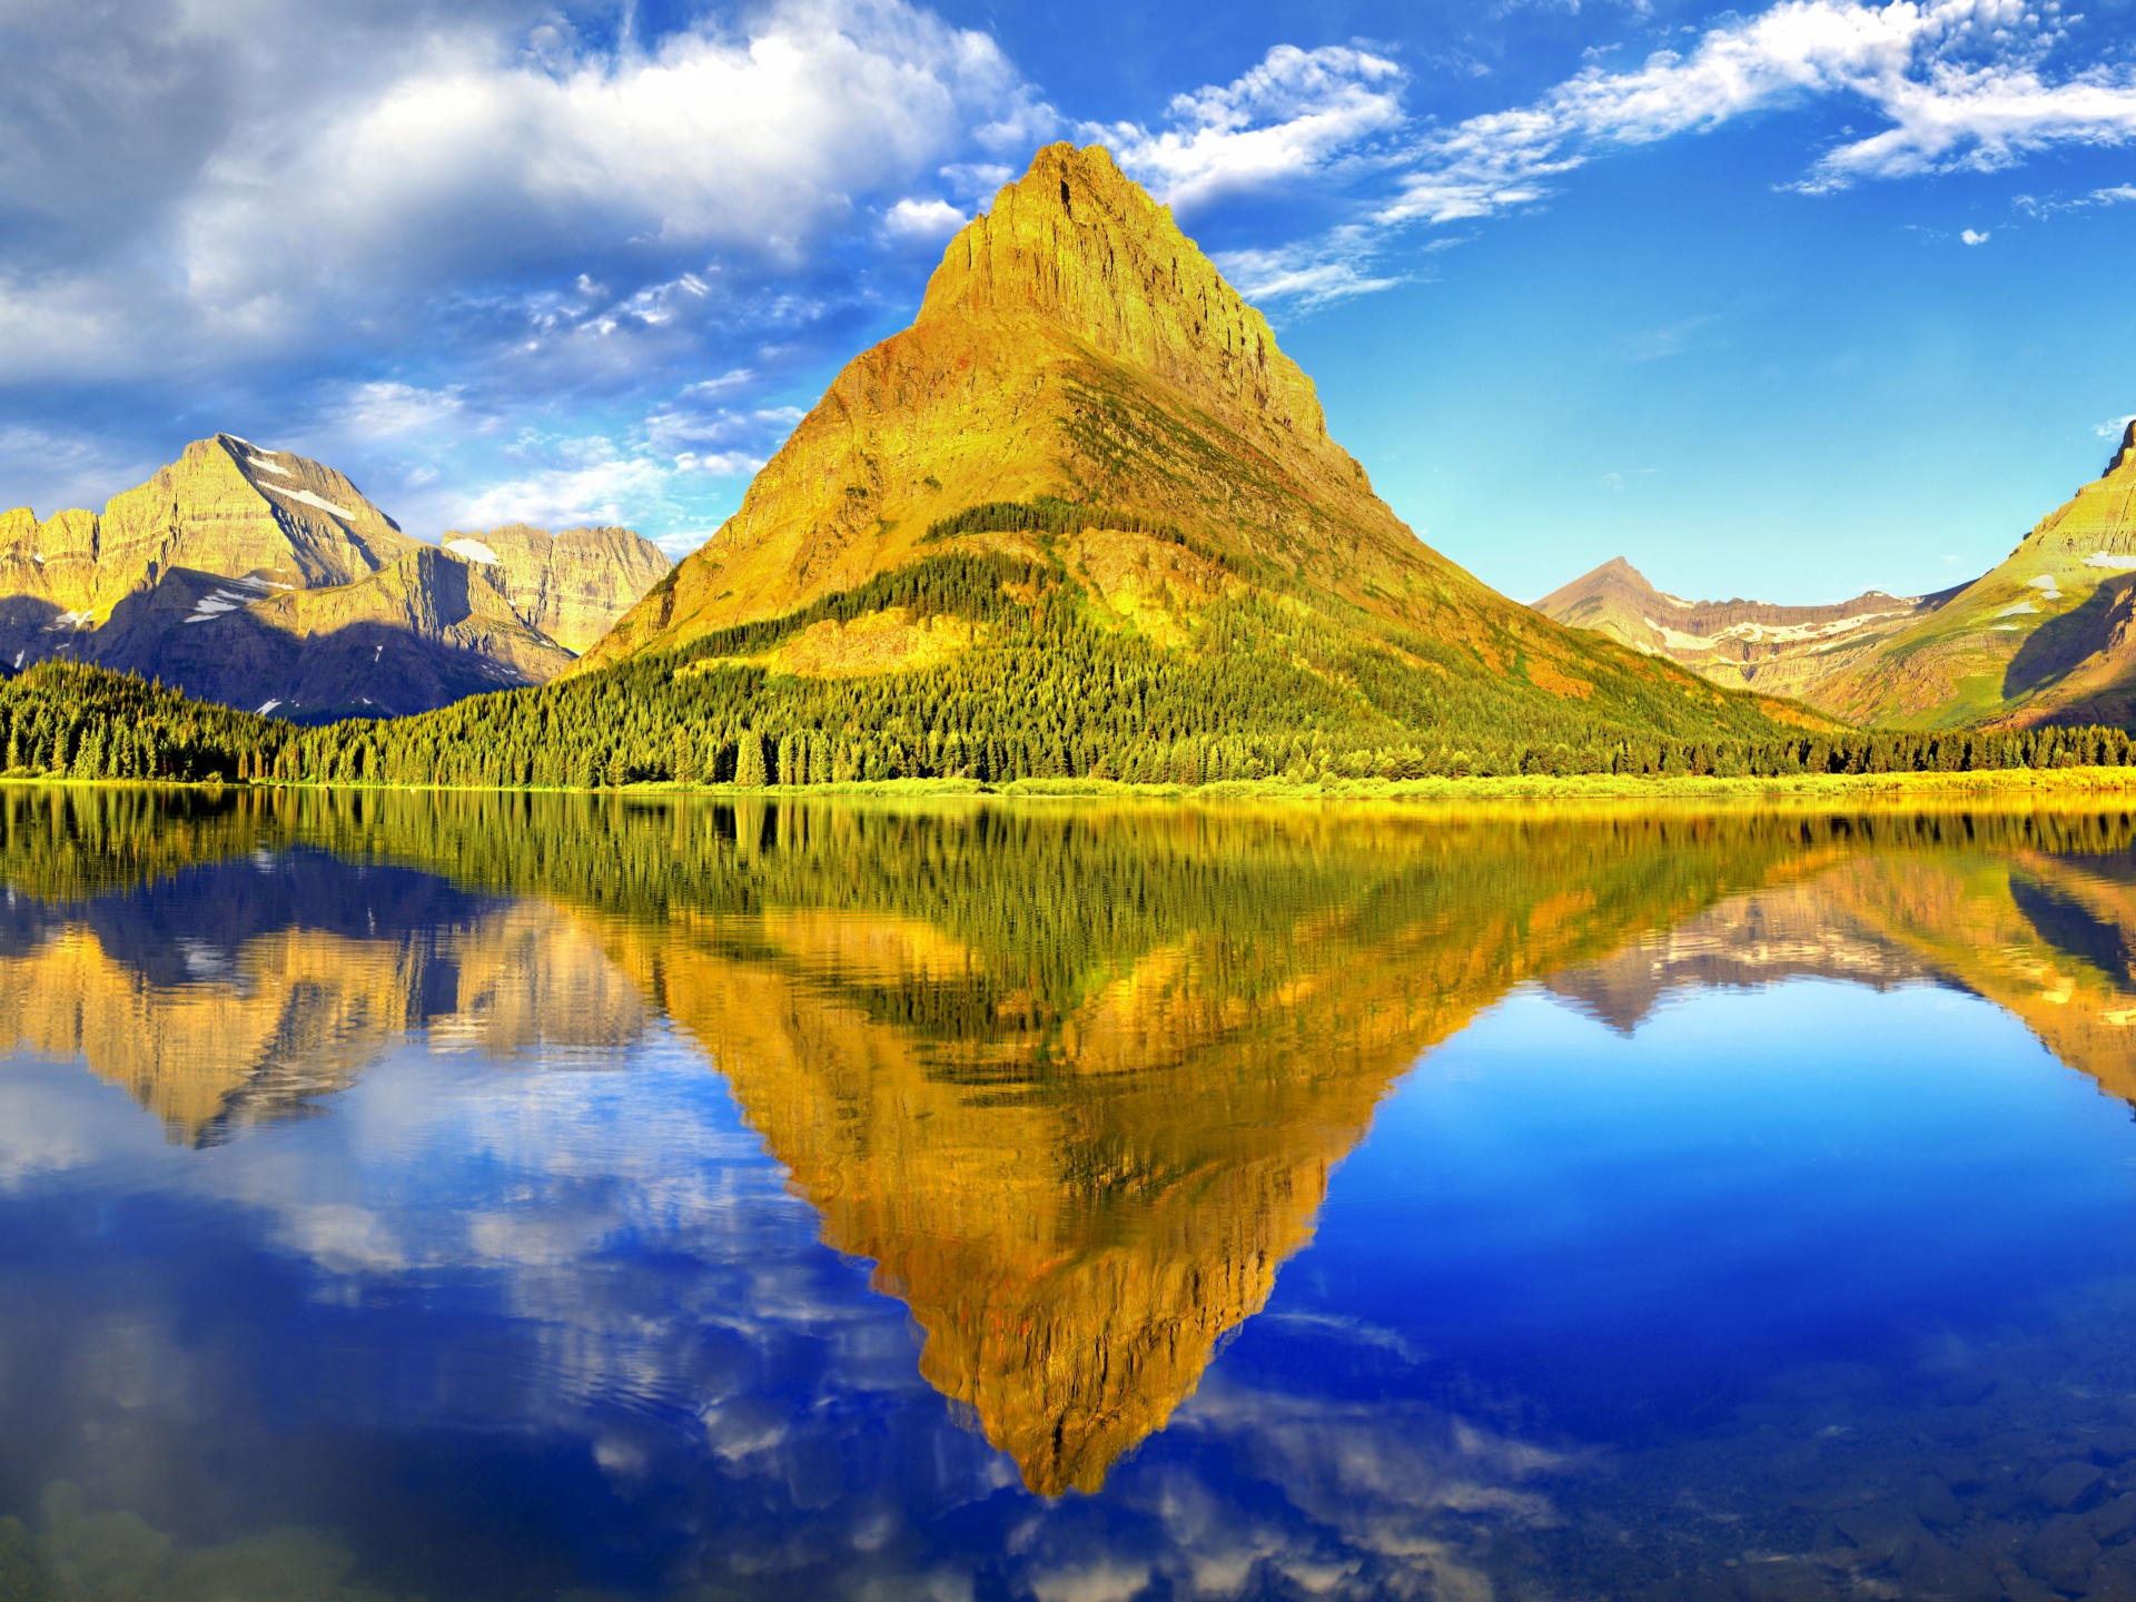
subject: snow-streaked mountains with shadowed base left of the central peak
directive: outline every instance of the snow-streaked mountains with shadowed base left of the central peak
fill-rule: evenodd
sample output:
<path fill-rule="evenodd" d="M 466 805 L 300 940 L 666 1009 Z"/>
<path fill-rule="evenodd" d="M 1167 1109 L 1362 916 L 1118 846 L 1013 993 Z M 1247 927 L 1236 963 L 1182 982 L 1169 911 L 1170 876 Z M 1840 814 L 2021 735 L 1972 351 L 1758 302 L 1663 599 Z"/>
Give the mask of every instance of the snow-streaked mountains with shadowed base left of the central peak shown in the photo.
<path fill-rule="evenodd" d="M 0 664 L 94 662 L 301 722 L 545 684 L 664 572 L 622 528 L 402 532 L 340 472 L 197 440 L 103 515 L 0 513 Z"/>

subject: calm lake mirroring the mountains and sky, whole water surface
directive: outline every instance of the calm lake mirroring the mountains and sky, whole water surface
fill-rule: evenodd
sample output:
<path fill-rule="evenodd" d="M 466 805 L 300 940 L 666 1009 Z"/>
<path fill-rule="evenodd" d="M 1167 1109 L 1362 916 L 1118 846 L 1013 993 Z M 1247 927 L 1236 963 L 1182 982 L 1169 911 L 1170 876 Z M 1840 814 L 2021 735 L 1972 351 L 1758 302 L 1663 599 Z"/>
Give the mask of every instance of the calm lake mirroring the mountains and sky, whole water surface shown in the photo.
<path fill-rule="evenodd" d="M 0 790 L 0 1602 L 2136 1598 L 2136 820 Z"/>

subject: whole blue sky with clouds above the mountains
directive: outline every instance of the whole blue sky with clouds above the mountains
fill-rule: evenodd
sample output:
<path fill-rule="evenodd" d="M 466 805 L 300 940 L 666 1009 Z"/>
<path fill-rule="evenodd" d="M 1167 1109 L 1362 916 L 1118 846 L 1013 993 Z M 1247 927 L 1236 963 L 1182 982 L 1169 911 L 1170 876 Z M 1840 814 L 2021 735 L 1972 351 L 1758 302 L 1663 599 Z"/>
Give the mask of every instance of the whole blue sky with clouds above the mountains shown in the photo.
<path fill-rule="evenodd" d="M 231 429 L 686 551 L 1051 139 L 1519 598 L 1957 583 L 2136 412 L 2136 0 L 0 0 L 0 60 L 45 515 Z"/>

